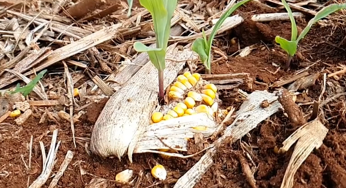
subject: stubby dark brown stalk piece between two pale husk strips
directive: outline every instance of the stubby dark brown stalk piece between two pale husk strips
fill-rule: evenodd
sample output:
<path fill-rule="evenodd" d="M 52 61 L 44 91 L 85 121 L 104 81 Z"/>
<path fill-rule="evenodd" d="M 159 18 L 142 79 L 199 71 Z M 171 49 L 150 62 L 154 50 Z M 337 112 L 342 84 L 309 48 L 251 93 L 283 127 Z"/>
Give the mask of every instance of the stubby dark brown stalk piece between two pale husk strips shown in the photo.
<path fill-rule="evenodd" d="M 307 123 L 306 119 L 303 116 L 302 110 L 294 102 L 293 96 L 288 92 L 288 90 L 283 90 L 281 94 L 279 94 L 278 100 L 287 112 L 290 121 L 295 126 L 301 126 Z"/>

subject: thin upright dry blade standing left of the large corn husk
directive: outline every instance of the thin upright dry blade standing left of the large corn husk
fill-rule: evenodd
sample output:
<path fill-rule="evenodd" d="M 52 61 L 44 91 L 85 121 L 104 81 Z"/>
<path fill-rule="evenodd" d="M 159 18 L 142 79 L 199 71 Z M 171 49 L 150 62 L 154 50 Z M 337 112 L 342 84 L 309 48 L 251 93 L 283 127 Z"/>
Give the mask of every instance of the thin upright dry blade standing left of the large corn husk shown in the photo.
<path fill-rule="evenodd" d="M 72 77 L 71 74 L 69 72 L 69 68 L 67 67 L 65 61 L 63 61 L 64 63 L 64 68 L 65 68 L 65 79 L 67 80 L 67 86 L 66 89 L 68 91 L 68 98 L 70 99 L 70 123 L 71 123 L 71 131 L 72 131 L 72 137 L 73 137 L 73 144 L 75 144 L 76 147 L 76 138 L 75 138 L 75 126 L 73 124 L 73 101 L 74 101 L 74 97 L 73 97 L 73 81 L 72 81 Z"/>

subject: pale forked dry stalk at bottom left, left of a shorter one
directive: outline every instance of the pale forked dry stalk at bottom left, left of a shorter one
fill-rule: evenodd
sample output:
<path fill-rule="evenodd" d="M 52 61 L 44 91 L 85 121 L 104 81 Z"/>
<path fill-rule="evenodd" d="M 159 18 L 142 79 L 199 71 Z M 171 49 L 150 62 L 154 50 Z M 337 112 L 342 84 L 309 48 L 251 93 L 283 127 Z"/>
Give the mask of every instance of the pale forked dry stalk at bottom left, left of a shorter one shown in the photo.
<path fill-rule="evenodd" d="M 58 136 L 58 130 L 55 129 L 54 132 L 53 132 L 52 141 L 50 143 L 50 147 L 49 147 L 47 158 L 45 157 L 45 151 L 44 151 L 44 146 L 43 146 L 42 153 L 44 153 L 44 155 L 42 155 L 42 158 L 43 158 L 42 173 L 29 186 L 29 188 L 41 188 L 45 184 L 45 182 L 48 180 L 48 178 L 49 178 L 49 176 L 50 176 L 50 174 L 51 174 L 51 172 L 53 170 L 54 161 L 55 161 L 55 158 L 56 158 L 56 153 L 57 153 L 59 145 L 60 145 L 60 141 L 58 141 L 58 143 L 56 144 L 57 136 Z M 40 142 L 40 145 L 42 146 L 43 143 L 42 144 L 41 143 L 42 142 Z"/>

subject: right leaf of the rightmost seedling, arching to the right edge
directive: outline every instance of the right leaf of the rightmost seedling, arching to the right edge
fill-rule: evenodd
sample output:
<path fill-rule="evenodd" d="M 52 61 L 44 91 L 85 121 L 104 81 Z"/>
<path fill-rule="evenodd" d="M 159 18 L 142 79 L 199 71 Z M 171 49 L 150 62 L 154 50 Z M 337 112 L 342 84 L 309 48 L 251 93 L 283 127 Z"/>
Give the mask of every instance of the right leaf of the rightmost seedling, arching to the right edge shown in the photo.
<path fill-rule="evenodd" d="M 338 4 L 338 3 L 334 3 L 334 4 L 330 4 L 324 8 L 322 8 L 320 11 L 317 12 L 317 14 L 315 15 L 315 17 L 313 17 L 306 25 L 306 27 L 304 28 L 304 30 L 302 31 L 302 33 L 299 35 L 298 39 L 297 39 L 297 44 L 298 42 L 303 39 L 305 37 L 305 35 L 307 34 L 307 32 L 309 32 L 309 30 L 311 29 L 312 25 L 314 23 L 316 23 L 318 20 L 327 17 L 329 14 L 336 12 L 338 10 L 341 9 L 345 9 L 346 8 L 346 3 L 342 3 L 342 4 Z"/>

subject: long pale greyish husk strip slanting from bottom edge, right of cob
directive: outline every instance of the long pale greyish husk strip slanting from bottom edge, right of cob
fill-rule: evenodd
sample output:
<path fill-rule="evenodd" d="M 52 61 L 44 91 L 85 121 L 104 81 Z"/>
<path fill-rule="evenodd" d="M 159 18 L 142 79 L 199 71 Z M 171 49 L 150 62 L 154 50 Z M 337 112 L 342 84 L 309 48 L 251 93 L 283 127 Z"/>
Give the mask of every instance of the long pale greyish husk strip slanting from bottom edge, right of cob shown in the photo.
<path fill-rule="evenodd" d="M 263 100 L 273 102 L 268 107 L 262 108 L 260 104 Z M 219 146 L 226 139 L 228 139 L 227 144 L 234 143 L 256 128 L 261 121 L 279 111 L 280 108 L 281 104 L 277 101 L 275 94 L 268 93 L 267 91 L 253 92 L 249 95 L 248 100 L 241 105 L 236 119 L 226 128 L 224 135 L 216 140 L 214 144 Z M 216 147 L 209 149 L 190 170 L 179 178 L 173 188 L 193 188 L 201 180 L 204 173 L 213 165 L 215 154 Z"/>

